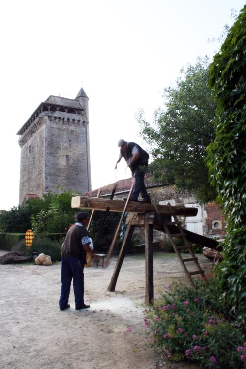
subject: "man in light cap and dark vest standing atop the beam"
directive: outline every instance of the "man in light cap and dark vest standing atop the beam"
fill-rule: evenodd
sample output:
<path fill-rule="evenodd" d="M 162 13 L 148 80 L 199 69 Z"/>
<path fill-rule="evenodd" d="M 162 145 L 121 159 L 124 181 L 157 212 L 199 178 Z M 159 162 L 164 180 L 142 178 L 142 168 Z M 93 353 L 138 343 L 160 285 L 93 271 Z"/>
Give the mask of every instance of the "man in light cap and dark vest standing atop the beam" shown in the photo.
<path fill-rule="evenodd" d="M 117 169 L 117 164 L 121 159 L 124 158 L 135 179 L 130 201 L 138 201 L 140 193 L 143 197 L 143 200 L 140 201 L 141 203 L 151 203 L 150 196 L 144 185 L 144 175 L 148 166 L 149 154 L 135 142 L 126 142 L 123 139 L 118 141 L 118 147 L 121 149 L 115 169 Z"/>

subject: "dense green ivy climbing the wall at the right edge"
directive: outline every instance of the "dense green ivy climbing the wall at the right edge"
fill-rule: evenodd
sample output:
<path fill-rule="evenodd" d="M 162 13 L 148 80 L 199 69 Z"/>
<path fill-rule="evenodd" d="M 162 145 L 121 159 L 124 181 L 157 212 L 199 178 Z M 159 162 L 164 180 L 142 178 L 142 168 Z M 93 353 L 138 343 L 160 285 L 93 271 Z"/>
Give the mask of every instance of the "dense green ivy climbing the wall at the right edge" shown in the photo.
<path fill-rule="evenodd" d="M 222 298 L 246 319 L 246 6 L 210 66 L 217 103 L 215 140 L 207 165 L 228 221 L 224 260 L 218 268 Z"/>

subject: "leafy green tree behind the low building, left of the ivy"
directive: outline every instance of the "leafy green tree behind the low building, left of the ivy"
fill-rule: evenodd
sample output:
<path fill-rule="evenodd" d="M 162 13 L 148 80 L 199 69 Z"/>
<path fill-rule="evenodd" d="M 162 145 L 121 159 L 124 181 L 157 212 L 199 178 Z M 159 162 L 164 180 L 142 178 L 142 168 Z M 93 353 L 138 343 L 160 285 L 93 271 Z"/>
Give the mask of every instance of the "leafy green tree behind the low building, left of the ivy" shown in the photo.
<path fill-rule="evenodd" d="M 154 126 L 143 112 L 137 117 L 141 135 L 150 144 L 154 178 L 166 184 L 192 191 L 197 199 L 215 199 L 209 184 L 205 149 L 215 137 L 213 119 L 216 106 L 208 83 L 208 60 L 181 71 L 177 86 L 164 90 L 165 109 L 154 115 Z"/>

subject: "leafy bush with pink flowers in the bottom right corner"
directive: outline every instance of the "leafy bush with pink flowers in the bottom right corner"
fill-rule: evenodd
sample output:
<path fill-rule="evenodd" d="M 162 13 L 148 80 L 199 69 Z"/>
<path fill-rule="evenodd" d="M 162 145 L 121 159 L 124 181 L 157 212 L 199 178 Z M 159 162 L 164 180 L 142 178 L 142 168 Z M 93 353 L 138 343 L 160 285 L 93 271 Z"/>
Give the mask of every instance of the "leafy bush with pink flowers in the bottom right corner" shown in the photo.
<path fill-rule="evenodd" d="M 196 287 L 174 285 L 146 311 L 151 345 L 163 360 L 195 361 L 210 369 L 246 368 L 246 339 L 237 322 L 226 319 L 212 278 Z"/>

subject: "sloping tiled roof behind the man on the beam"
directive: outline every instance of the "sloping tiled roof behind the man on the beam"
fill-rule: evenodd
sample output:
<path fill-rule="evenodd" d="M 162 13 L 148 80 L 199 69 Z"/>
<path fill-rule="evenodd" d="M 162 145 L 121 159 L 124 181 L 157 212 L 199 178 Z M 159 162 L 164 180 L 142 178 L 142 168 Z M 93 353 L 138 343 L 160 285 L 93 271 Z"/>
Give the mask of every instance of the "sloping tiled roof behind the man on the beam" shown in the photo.
<path fill-rule="evenodd" d="M 149 174 L 149 173 L 147 173 L 144 178 L 145 178 L 146 188 L 158 184 L 158 183 L 154 182 L 154 180 L 152 179 L 151 174 Z M 132 184 L 132 177 L 126 178 L 124 180 L 119 180 L 115 193 L 117 194 L 119 192 L 129 191 L 130 188 L 131 188 L 131 184 Z M 162 185 L 162 184 L 160 184 L 160 185 Z M 114 186 L 115 186 L 115 182 L 101 187 L 100 196 L 109 195 L 112 192 Z M 85 193 L 84 196 L 96 197 L 97 192 L 98 192 L 98 188 L 94 189 L 93 191 Z"/>

